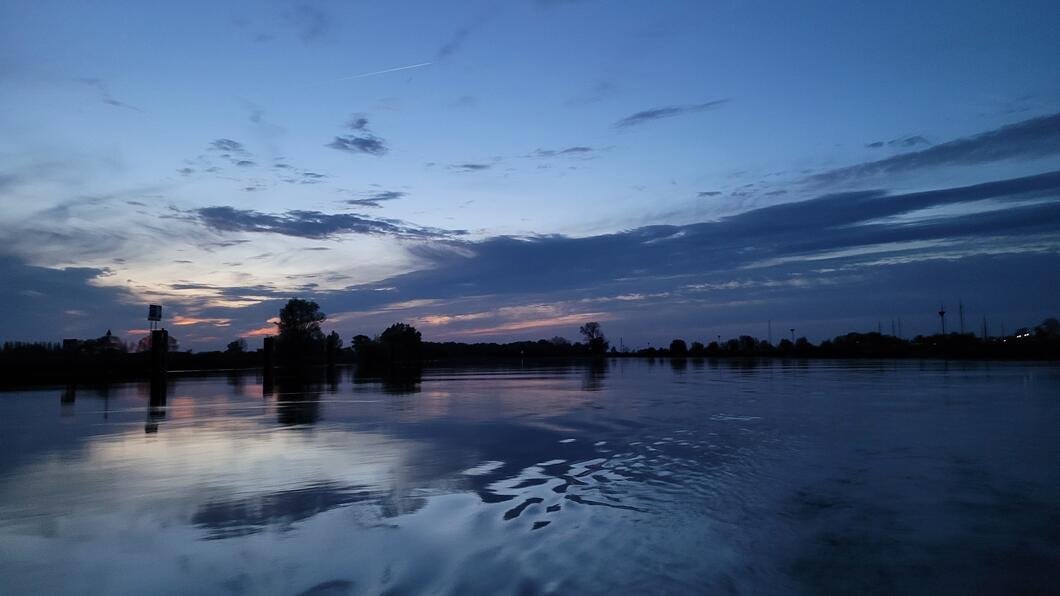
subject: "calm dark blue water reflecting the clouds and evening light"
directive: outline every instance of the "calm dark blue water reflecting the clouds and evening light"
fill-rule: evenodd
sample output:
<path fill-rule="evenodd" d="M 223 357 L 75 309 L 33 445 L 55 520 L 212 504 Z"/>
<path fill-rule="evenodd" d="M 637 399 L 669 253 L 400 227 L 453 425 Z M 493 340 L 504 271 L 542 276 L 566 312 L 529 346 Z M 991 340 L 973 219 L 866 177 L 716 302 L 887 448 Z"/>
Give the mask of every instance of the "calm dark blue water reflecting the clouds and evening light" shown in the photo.
<path fill-rule="evenodd" d="M 1060 367 L 340 370 L 0 393 L 5 594 L 1045 594 Z"/>

